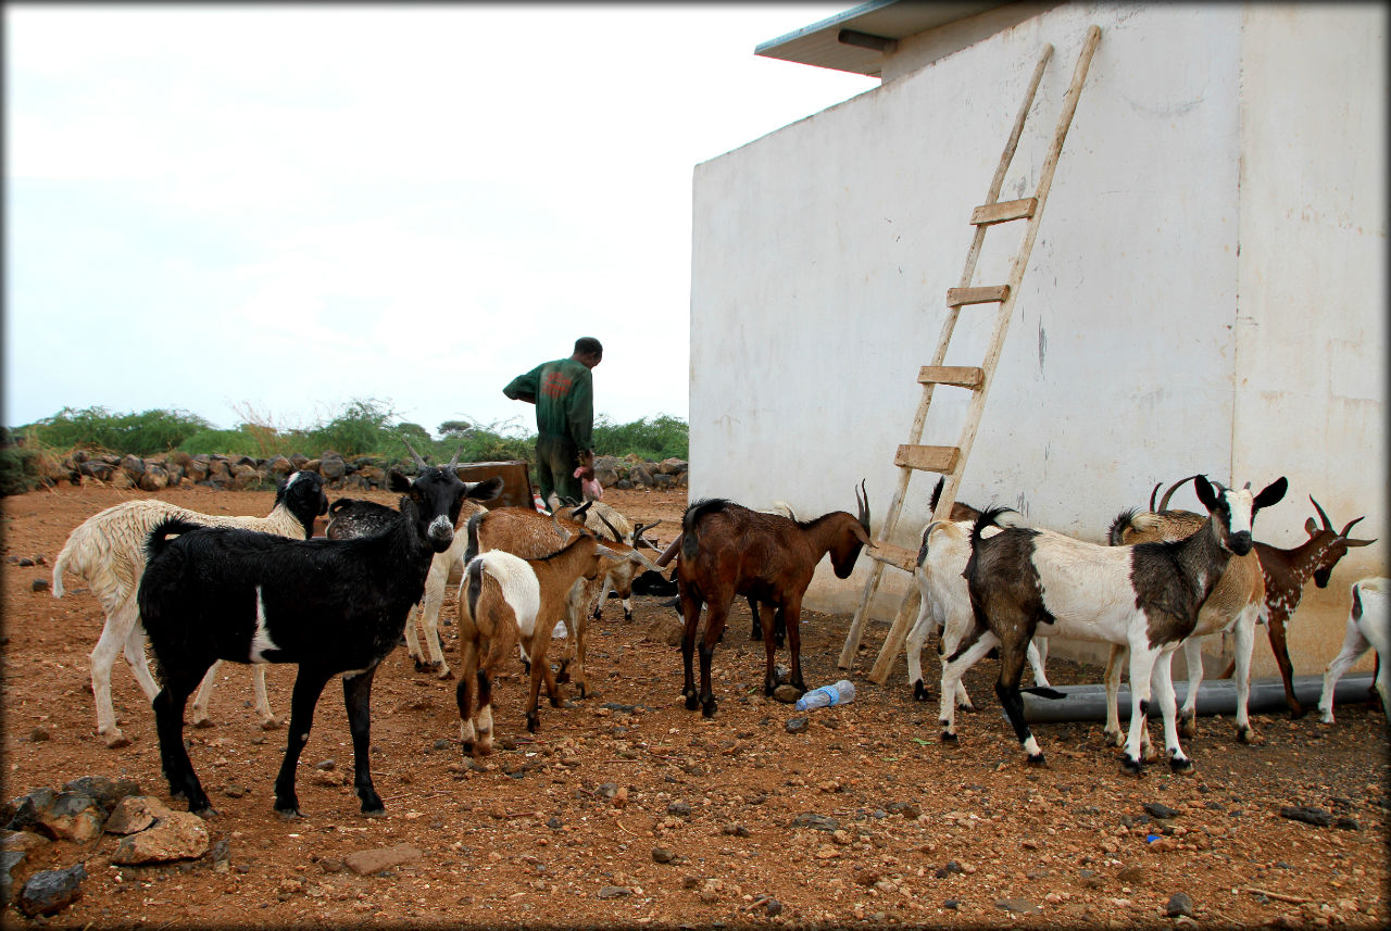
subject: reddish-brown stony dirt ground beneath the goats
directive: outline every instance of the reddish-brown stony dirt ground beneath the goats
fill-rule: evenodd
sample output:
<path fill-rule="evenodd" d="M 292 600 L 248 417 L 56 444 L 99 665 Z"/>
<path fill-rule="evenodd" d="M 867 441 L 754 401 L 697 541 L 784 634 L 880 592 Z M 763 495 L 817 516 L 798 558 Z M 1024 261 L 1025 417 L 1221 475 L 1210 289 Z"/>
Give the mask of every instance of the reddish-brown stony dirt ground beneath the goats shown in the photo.
<path fill-rule="evenodd" d="M 159 495 L 243 514 L 264 514 L 273 499 Z M 134 743 L 113 750 L 95 734 L 88 653 L 102 625 L 96 600 L 75 577 L 61 600 L 33 589 L 74 527 L 129 496 L 81 488 L 3 500 L 3 798 L 108 775 L 135 778 L 171 803 L 153 716 L 124 659 L 113 693 Z M 686 504 L 684 492 L 609 491 L 605 500 L 634 518 L 666 518 L 652 534 L 661 543 Z M 1237 743 L 1231 721 L 1202 718 L 1199 736 L 1185 743 L 1195 773 L 1173 775 L 1157 764 L 1139 778 L 1121 773 L 1100 724 L 1043 724 L 1035 732 L 1050 766 L 1034 770 L 995 700 L 993 660 L 968 674 L 979 710 L 961 717 L 960 745 L 944 746 L 936 705 L 911 699 L 901 657 L 886 686 L 864 678 L 886 624 L 867 625 L 853 670 L 836 668 L 849 616 L 804 618 L 803 666 L 810 685 L 851 678 L 857 698 L 801 716 L 762 696 L 762 646 L 748 642 L 747 607 L 736 606 L 715 652 L 719 713 L 704 720 L 682 700 L 680 652 L 664 634 L 673 610 L 661 600 L 637 599 L 630 623 L 609 602 L 591 627 L 598 693 L 563 709 L 542 702 L 533 736 L 520 663 L 499 678 L 501 748 L 479 767 L 462 757 L 455 684 L 416 673 L 405 649 L 392 653 L 376 678 L 371 720 L 384 818 L 359 813 L 346 718 L 330 684 L 299 773 L 306 817 L 278 820 L 271 782 L 285 732 L 257 727 L 249 673 L 224 666 L 216 725 L 186 735 L 218 809 L 210 834 L 230 842 L 231 868 L 214 870 L 210 857 L 114 866 L 115 838 L 107 835 L 31 855 L 15 870 L 15 888 L 35 868 L 85 863 L 82 898 L 50 920 L 72 927 L 1391 923 L 1380 706 L 1338 706 L 1334 725 L 1316 714 L 1256 716 L 1256 746 Z M 445 617 L 452 610 L 451 596 Z M 442 629 L 455 661 L 453 628 Z M 935 657 L 925 666 L 931 674 Z M 294 673 L 270 667 L 280 714 Z M 1054 684 L 1099 681 L 1099 670 L 1060 660 L 1049 675 Z M 810 717 L 810 727 L 789 732 L 794 717 Z M 40 734 L 46 739 L 35 739 Z M 328 760 L 332 768 L 319 768 Z M 1156 821 L 1146 803 L 1178 814 Z M 1324 809 L 1345 827 L 1281 817 L 1283 806 L 1296 805 Z M 353 852 L 396 843 L 423 856 L 376 875 L 345 868 Z M 1166 917 L 1175 893 L 1189 896 L 1191 918 Z M 4 916 L 7 927 L 33 923 L 14 910 Z"/>

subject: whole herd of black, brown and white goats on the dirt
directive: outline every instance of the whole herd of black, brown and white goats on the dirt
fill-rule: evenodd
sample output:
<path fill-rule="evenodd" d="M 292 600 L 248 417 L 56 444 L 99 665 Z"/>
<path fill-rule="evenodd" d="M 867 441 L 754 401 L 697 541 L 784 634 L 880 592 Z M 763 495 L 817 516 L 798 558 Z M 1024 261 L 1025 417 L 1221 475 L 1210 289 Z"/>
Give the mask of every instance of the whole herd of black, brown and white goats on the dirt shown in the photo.
<path fill-rule="evenodd" d="M 380 814 L 384 806 L 373 788 L 369 756 L 373 675 L 402 634 L 417 670 L 453 675 L 438 635 L 449 585 L 459 586 L 460 741 L 465 753 L 480 756 L 492 750 L 494 675 L 517 649 L 530 678 L 529 731 L 538 727 L 542 685 L 552 707 L 561 705 L 558 682 L 572 682 L 581 698 L 587 693 L 586 624 L 600 617 L 611 588 L 632 617 L 634 591 L 672 593 L 675 586 L 684 620 L 682 695 L 687 709 L 715 714 L 711 657 L 736 596 L 748 599 L 754 638 L 765 645 L 765 693 L 775 691 L 773 657 L 785 639 L 789 681 L 805 691 L 798 627 L 812 572 L 829 554 L 836 577 L 847 578 L 861 550 L 875 546 L 862 482 L 855 489 L 857 514 L 832 511 L 808 521 L 796 520 L 786 506 L 758 511 L 725 499 L 696 502 L 682 518 L 680 535 L 652 560 L 647 552 L 655 547 L 643 531 L 654 524 L 630 524 L 602 502 L 558 507 L 552 514 L 490 510 L 484 502 L 499 495 L 501 478 L 462 481 L 458 453 L 445 466 L 430 466 L 415 449 L 410 456 L 417 467 L 413 477 L 389 474 L 391 489 L 402 493 L 395 509 L 352 499 L 330 509 L 323 478 L 300 471 L 280 485 L 266 517 L 202 514 L 149 497 L 108 507 L 74 529 L 54 561 L 53 593 L 63 596 L 64 572 L 78 574 L 106 611 L 92 652 L 92 688 L 97 732 L 107 746 L 129 742 L 117 727 L 110 686 L 111 666 L 124 652 L 153 703 L 171 795 L 185 799 L 192 811 L 210 813 L 182 739 L 189 696 L 196 691 L 193 724 L 206 723 L 218 663 L 249 663 L 262 724 L 277 727 L 264 664 L 296 663 L 275 810 L 284 817 L 299 814 L 299 756 L 320 693 L 330 678 L 341 675 L 355 789 L 363 813 Z M 1267 546 L 1252 539 L 1252 521 L 1284 497 L 1284 478 L 1259 493 L 1249 484 L 1224 488 L 1203 475 L 1180 485 L 1188 481 L 1206 516 L 1170 510 L 1174 485 L 1157 506 L 1152 493 L 1148 511 L 1120 514 L 1109 545 L 1021 525 L 1008 509 L 978 511 L 961 503 L 953 504 L 949 520 L 922 529 L 914 572 L 922 609 L 907 639 L 908 679 L 914 696 L 926 700 L 921 652 L 928 635 L 940 629 L 943 741 L 957 739 L 956 710 L 970 707 L 963 674 L 997 650 L 996 693 L 1028 760 L 1042 763 L 1024 718 L 1020 682 L 1028 661 L 1035 677 L 1031 691 L 1060 695 L 1047 688 L 1043 671 L 1052 635 L 1111 645 L 1106 736 L 1124 745 L 1124 764 L 1132 771 L 1139 771 L 1146 752 L 1152 755 L 1146 727 L 1152 689 L 1170 766 L 1192 767 L 1178 735 L 1192 732 L 1202 677 L 1199 638 L 1234 635 L 1239 739 L 1252 739 L 1246 699 L 1257 623 L 1269 627 L 1289 709 L 1302 714 L 1291 685 L 1285 623 L 1310 578 L 1327 585 L 1349 547 L 1374 541 L 1348 536 L 1362 518 L 1334 531 L 1310 497 L 1319 521 L 1306 521 L 1309 539 L 1294 549 Z M 330 510 L 325 536 L 316 538 L 314 521 Z M 662 572 L 673 559 L 676 567 L 666 578 Z M 1377 652 L 1374 688 L 1391 716 L 1391 674 L 1380 666 L 1391 648 L 1388 592 L 1384 578 L 1352 585 L 1346 638 L 1328 666 L 1319 702 L 1324 721 L 1333 720 L 1333 685 L 1367 649 Z M 412 616 L 416 604 L 423 638 Z M 693 663 L 702 607 L 697 688 Z M 552 670 L 547 649 L 562 620 L 566 656 Z M 160 682 L 150 674 L 146 638 Z M 1187 652 L 1191 681 L 1185 705 L 1175 713 L 1170 660 L 1178 648 Z M 1117 695 L 1127 653 L 1131 721 L 1123 734 Z"/>

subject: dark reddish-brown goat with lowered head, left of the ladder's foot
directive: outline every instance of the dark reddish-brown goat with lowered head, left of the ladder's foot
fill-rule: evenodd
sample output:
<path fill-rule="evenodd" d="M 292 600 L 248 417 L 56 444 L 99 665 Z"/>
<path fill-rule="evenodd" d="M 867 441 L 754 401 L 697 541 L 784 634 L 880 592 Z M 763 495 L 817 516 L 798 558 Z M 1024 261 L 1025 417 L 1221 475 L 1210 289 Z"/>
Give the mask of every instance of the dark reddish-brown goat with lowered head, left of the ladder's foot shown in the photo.
<path fill-rule="evenodd" d="M 817 563 L 830 553 L 836 578 L 849 578 L 860 549 L 874 546 L 869 536 L 869 502 L 855 489 L 858 517 L 830 511 L 810 521 L 794 521 L 780 514 L 764 514 L 725 499 L 696 502 L 682 517 L 682 549 L 676 564 L 682 616 L 682 661 L 686 679 L 682 695 L 687 709 L 715 714 L 715 696 L 709 684 L 709 661 L 715 643 L 725 632 L 729 606 L 736 595 L 758 599 L 762 614 L 764 695 L 776 688 L 773 677 L 773 617 L 782 611 L 787 624 L 787 648 L 791 652 L 791 685 L 805 692 L 801 675 L 801 599 L 815 572 Z M 691 666 L 696 652 L 696 628 L 701 607 L 708 606 L 705 638 L 700 648 L 700 692 L 696 691 Z"/>

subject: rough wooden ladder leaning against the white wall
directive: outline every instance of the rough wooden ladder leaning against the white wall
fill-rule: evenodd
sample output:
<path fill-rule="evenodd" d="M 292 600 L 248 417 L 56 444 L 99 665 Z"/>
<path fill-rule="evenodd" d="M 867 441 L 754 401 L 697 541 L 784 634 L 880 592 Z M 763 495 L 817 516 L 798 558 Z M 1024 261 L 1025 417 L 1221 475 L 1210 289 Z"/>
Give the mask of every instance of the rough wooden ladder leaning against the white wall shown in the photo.
<path fill-rule="evenodd" d="M 840 650 L 840 659 L 837 660 L 840 668 L 850 668 L 855 652 L 860 649 L 865 617 L 869 603 L 879 589 L 883 567 L 894 566 L 906 572 L 912 572 L 917 566 L 917 552 L 889 542 L 899 525 L 899 516 L 903 511 L 903 502 L 907 496 L 908 479 L 912 477 L 912 472 L 929 471 L 940 472 L 946 477 L 942 495 L 932 511 L 932 520 L 946 520 L 951 511 L 953 502 L 956 502 L 957 491 L 961 488 L 961 474 L 965 471 L 967 459 L 971 456 L 971 445 L 975 442 L 976 428 L 981 425 L 985 397 L 995 377 L 996 363 L 1000 360 L 1000 350 L 1004 347 L 1004 335 L 1010 328 L 1014 299 L 1018 295 L 1020 281 L 1024 278 L 1024 270 L 1034 249 L 1034 239 L 1038 235 L 1039 217 L 1043 214 L 1043 204 L 1047 201 L 1047 192 L 1053 183 L 1053 171 L 1057 168 L 1059 156 L 1063 154 L 1063 140 L 1067 139 L 1068 126 L 1072 125 L 1077 99 L 1082 93 L 1082 83 L 1086 81 L 1086 71 L 1092 64 L 1092 53 L 1096 51 L 1096 43 L 1100 42 L 1100 38 L 1102 31 L 1097 26 L 1093 25 L 1086 31 L 1082 51 L 1077 60 L 1077 68 L 1072 71 L 1072 83 L 1063 96 L 1063 113 L 1053 131 L 1053 142 L 1039 171 L 1038 190 L 1035 190 L 1032 197 L 999 201 L 1000 188 L 1004 186 L 1004 175 L 1010 168 L 1014 150 L 1018 147 L 1020 136 L 1024 132 L 1024 121 L 1034 106 L 1034 94 L 1038 92 L 1039 82 L 1043 79 L 1043 69 L 1053 56 L 1053 46 L 1043 46 L 1038 65 L 1034 68 L 1028 92 L 1024 96 L 1024 104 L 1014 118 L 1014 128 L 1010 132 L 1008 142 L 1004 145 L 1004 154 L 1000 156 L 1000 164 L 996 167 L 995 178 L 990 181 L 990 190 L 985 196 L 985 203 L 971 213 L 975 238 L 971 242 L 971 249 L 967 252 L 961 283 L 947 290 L 947 317 L 942 324 L 942 336 L 938 339 L 938 349 L 932 356 L 932 364 L 924 365 L 918 371 L 918 382 L 922 385 L 922 400 L 918 402 L 918 413 L 912 418 L 910 440 L 899 446 L 899 452 L 893 457 L 893 464 L 899 467 L 899 486 L 893 493 L 893 500 L 889 504 L 889 513 L 881 531 L 883 539 L 875 541 L 878 545 L 876 549 L 865 550 L 865 553 L 875 559 L 875 567 L 869 575 L 869 581 L 865 584 L 864 595 L 860 598 L 860 607 L 855 610 L 854 620 L 850 624 L 846 645 Z M 1013 265 L 1010 267 L 1008 281 L 1003 285 L 972 286 L 971 279 L 975 277 L 975 263 L 981 256 L 986 229 L 1014 220 L 1024 220 L 1027 226 L 1020 250 L 1015 253 Z M 951 342 L 951 333 L 956 331 L 961 308 L 974 304 L 996 306 L 995 332 L 986 347 L 985 360 L 979 367 L 943 365 L 947 345 Z M 932 406 L 932 392 L 938 385 L 964 388 L 972 392 L 971 403 L 967 409 L 965 425 L 956 446 L 924 446 L 919 442 L 922 439 L 922 428 L 928 420 L 928 409 Z M 889 635 L 885 638 L 883 648 L 879 650 L 879 657 L 869 671 L 872 682 L 883 685 L 887 681 L 889 668 L 903 649 L 903 641 L 907 636 L 908 627 L 917 620 L 919 604 L 921 596 L 918 595 L 918 588 L 917 585 L 910 585 L 908 593 L 904 596 L 899 613 L 893 618 L 893 625 L 889 628 Z"/>

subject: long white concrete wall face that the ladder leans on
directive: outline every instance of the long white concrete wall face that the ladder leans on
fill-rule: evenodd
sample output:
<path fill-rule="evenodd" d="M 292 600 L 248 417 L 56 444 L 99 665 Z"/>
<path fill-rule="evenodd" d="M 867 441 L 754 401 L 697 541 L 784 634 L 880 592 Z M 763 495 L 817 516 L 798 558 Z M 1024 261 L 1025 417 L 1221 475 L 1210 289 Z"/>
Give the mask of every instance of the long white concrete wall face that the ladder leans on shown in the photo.
<path fill-rule="evenodd" d="M 961 499 L 1011 504 L 1040 525 L 1100 541 L 1157 481 L 1205 471 L 1263 484 L 1287 468 L 1232 447 L 1234 435 L 1245 442 L 1235 427 L 1245 403 L 1235 328 L 1244 50 L 1252 57 L 1242 29 L 1252 15 L 1237 6 L 1063 6 L 698 165 L 691 497 L 755 507 L 785 499 L 815 516 L 851 510 L 851 488 L 865 478 L 879 529 L 897 481 L 893 452 L 921 396 L 914 378 L 961 275 L 971 210 L 1038 51 L 1052 42 L 1002 199 L 1034 192 L 1092 22 L 1102 43 Z M 1384 245 L 1384 220 L 1369 228 Z M 988 235 L 974 283 L 1003 282 L 1021 232 L 1015 224 Z M 947 364 L 978 364 L 989 335 L 989 306 L 964 313 Z M 961 395 L 938 389 L 924 442 L 956 443 Z M 1309 446 L 1310 457 L 1324 454 L 1316 440 Z M 933 481 L 914 477 L 900 545 L 915 546 Z M 1340 481 L 1349 491 L 1330 489 L 1330 500 L 1383 488 L 1370 475 Z M 1260 529 L 1298 528 L 1296 510 L 1273 510 Z M 822 566 L 808 606 L 853 611 L 867 577 L 867 560 L 846 582 Z M 908 582 L 897 570 L 885 579 L 872 609 L 881 618 Z"/>

